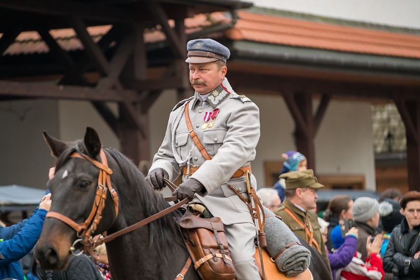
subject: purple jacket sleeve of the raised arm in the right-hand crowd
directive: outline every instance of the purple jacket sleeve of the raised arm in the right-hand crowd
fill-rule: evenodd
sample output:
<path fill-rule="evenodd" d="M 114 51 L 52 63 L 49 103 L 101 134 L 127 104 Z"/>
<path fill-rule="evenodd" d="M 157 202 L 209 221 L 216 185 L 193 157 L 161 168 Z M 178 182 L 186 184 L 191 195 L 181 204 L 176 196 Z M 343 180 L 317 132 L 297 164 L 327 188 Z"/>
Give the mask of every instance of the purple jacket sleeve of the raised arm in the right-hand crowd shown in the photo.
<path fill-rule="evenodd" d="M 357 239 L 352 235 L 348 235 L 344 239 L 344 243 L 340 248 L 335 250 L 334 253 L 328 253 L 328 260 L 332 270 L 347 266 L 356 252 Z"/>

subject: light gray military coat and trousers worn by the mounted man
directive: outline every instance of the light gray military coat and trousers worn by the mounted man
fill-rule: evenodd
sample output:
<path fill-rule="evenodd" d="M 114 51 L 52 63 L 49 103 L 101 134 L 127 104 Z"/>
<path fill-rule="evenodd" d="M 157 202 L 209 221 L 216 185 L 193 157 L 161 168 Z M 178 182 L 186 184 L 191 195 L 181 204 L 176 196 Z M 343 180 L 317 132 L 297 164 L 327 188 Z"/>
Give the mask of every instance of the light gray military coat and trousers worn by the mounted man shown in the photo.
<path fill-rule="evenodd" d="M 185 122 L 185 115 L 178 113 L 189 101 L 188 112 L 192 126 L 209 153 L 206 160 L 191 139 Z M 219 109 L 214 125 L 203 129 L 206 112 Z M 208 121 L 210 123 L 211 119 Z M 174 128 L 174 123 L 178 123 Z M 175 139 L 173 139 L 175 131 Z M 204 101 L 196 92 L 194 97 L 182 101 L 171 112 L 165 138 L 153 158 L 150 170 L 164 169 L 171 180 L 175 180 L 181 167 L 199 166 L 191 176 L 200 181 L 206 194 L 195 194 L 195 200 L 202 202 L 214 216 L 225 225 L 229 250 L 237 270 L 237 279 L 259 279 L 254 265 L 253 245 L 255 227 L 245 203 L 227 186 L 236 187 L 246 197 L 245 176 L 231 178 L 241 167 L 250 165 L 255 159 L 255 147 L 260 137 L 259 109 L 245 96 L 236 94 L 225 78 Z M 179 156 L 175 159 L 173 150 Z M 182 181 L 187 180 L 186 175 Z M 256 180 L 251 175 L 251 184 L 256 189 Z"/>

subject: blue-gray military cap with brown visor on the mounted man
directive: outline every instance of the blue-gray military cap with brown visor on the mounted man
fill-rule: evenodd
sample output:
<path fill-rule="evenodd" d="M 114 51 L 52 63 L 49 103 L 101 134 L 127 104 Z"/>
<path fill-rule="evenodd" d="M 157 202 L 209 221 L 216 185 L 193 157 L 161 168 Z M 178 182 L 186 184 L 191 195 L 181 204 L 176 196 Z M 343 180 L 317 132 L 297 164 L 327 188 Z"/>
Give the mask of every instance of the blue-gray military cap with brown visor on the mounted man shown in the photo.
<path fill-rule="evenodd" d="M 230 56 L 227 47 L 213 39 L 194 39 L 187 43 L 188 58 L 185 62 L 206 63 L 216 60 L 226 60 Z"/>

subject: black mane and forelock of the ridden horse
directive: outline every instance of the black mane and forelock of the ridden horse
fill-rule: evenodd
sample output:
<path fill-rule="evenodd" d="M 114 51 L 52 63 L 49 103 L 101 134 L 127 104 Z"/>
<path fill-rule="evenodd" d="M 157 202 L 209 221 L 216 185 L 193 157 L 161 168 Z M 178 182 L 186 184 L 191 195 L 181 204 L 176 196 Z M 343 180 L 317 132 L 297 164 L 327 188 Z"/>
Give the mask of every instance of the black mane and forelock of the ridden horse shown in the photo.
<path fill-rule="evenodd" d="M 133 203 L 122 203 L 120 200 L 120 208 L 139 206 L 142 207 L 144 215 L 148 217 L 169 207 L 162 195 L 157 194 L 153 187 L 147 184 L 144 176 L 130 159 L 114 148 L 104 147 L 103 149 L 117 162 L 122 176 L 127 182 L 125 187 L 114 185 L 118 196 L 129 197 L 133 201 Z M 86 154 L 82 141 L 74 142 L 61 154 L 56 163 L 56 170 L 65 164 L 73 152 Z M 127 194 L 127 192 L 129 193 Z M 165 263 L 168 263 L 173 257 L 170 248 L 174 247 L 174 242 L 176 242 L 174 237 L 179 234 L 176 219 L 180 216 L 181 212 L 176 210 L 148 224 L 150 247 L 155 247 L 155 251 L 159 254 L 165 254 L 160 256 Z M 162 248 L 168 249 L 162 250 Z"/>

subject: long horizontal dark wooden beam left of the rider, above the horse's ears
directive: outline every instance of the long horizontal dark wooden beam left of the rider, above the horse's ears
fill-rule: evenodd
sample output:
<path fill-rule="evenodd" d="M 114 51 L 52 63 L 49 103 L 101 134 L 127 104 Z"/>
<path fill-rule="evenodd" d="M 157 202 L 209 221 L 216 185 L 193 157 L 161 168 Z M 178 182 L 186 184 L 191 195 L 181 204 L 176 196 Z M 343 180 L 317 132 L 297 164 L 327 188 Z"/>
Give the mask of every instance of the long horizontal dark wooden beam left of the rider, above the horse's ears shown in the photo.
<path fill-rule="evenodd" d="M 123 102 L 121 92 L 128 102 L 139 101 L 134 90 L 99 90 L 86 86 L 0 80 L 0 96 Z"/>

